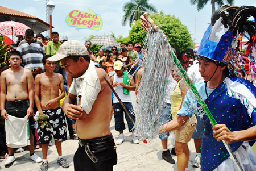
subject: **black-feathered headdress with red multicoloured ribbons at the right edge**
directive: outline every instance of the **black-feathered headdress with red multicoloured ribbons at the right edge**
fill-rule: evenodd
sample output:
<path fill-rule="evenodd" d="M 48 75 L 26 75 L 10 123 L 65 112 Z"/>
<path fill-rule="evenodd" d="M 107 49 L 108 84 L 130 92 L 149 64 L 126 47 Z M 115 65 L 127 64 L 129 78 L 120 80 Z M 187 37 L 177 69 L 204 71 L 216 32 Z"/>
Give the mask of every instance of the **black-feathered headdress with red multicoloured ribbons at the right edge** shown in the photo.
<path fill-rule="evenodd" d="M 253 20 L 254 18 L 254 20 Z M 232 42 L 232 64 L 237 76 L 244 77 L 251 74 L 251 81 L 256 80 L 255 69 L 255 35 L 256 35 L 256 8 L 254 6 L 241 6 L 233 16 L 230 30 L 233 32 L 234 40 Z M 248 41 L 245 54 L 240 54 L 238 47 L 242 43 L 242 36 L 247 37 Z M 238 40 L 238 41 L 235 41 Z"/>

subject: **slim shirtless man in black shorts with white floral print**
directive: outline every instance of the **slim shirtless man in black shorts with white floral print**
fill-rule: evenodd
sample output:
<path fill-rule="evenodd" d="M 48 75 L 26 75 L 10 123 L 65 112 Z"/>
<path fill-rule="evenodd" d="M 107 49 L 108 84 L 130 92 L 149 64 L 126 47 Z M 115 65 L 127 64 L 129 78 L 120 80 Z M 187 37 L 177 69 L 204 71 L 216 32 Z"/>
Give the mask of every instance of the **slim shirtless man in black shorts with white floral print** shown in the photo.
<path fill-rule="evenodd" d="M 38 74 L 35 77 L 36 107 L 38 108 L 39 115 L 47 115 L 48 122 L 51 124 L 51 129 L 42 129 L 41 124 L 38 123 L 38 141 L 42 144 L 43 153 L 41 171 L 48 169 L 47 151 L 48 144 L 52 139 L 52 134 L 59 155 L 57 164 L 63 166 L 63 168 L 69 167 L 67 161 L 62 157 L 61 151 L 61 141 L 67 138 L 65 116 L 60 107 L 60 99 L 65 97 L 65 87 L 61 74 L 53 72 L 56 63 L 48 60 L 51 56 L 52 55 L 46 55 L 43 57 L 42 63 L 44 68 L 46 68 L 46 72 Z M 60 96 L 59 89 L 61 90 Z"/>

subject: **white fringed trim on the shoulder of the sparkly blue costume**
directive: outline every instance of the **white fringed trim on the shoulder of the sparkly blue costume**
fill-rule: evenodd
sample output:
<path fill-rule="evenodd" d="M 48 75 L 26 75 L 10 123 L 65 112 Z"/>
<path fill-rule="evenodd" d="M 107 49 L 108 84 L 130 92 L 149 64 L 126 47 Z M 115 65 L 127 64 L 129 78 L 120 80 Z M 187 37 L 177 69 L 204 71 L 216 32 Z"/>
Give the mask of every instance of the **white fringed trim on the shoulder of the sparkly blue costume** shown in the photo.
<path fill-rule="evenodd" d="M 245 85 L 232 81 L 229 78 L 225 78 L 224 84 L 227 87 L 229 97 L 240 99 L 241 103 L 246 107 L 248 115 L 251 117 L 251 113 L 256 107 L 256 98 L 251 91 Z"/>

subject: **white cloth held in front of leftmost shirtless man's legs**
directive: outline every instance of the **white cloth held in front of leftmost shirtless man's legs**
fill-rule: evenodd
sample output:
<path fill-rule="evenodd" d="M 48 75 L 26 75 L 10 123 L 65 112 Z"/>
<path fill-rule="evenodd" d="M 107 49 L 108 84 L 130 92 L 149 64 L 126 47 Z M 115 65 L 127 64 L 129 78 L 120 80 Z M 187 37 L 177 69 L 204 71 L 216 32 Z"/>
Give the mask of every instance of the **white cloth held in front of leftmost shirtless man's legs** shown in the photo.
<path fill-rule="evenodd" d="M 8 115 L 8 120 L 5 120 L 6 144 L 8 147 L 19 148 L 30 145 L 27 116 L 25 118 L 16 118 Z"/>

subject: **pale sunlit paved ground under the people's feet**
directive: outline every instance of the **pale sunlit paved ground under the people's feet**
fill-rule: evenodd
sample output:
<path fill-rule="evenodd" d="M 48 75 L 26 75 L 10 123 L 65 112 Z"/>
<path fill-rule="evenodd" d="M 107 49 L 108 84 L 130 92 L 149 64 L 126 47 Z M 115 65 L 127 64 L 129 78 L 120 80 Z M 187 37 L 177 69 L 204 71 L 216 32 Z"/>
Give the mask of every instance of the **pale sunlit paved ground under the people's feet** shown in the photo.
<path fill-rule="evenodd" d="M 134 92 L 131 92 L 134 97 Z M 134 99 L 134 98 L 133 98 Z M 127 124 L 126 124 L 127 127 Z M 118 138 L 118 132 L 114 130 L 114 119 L 112 119 L 110 123 L 110 130 L 115 139 Z M 124 130 L 124 135 L 126 137 L 125 142 L 121 145 L 117 145 L 117 156 L 118 163 L 114 166 L 115 171 L 119 170 L 177 170 L 176 164 L 169 164 L 168 162 L 162 159 L 162 145 L 160 139 L 152 140 L 148 144 L 144 144 L 140 141 L 139 144 L 133 144 L 131 141 L 130 132 Z M 170 137 L 169 137 L 170 139 Z M 171 140 L 170 140 L 171 141 Z M 169 141 L 169 142 L 170 142 Z M 168 143 L 170 144 L 170 143 Z M 190 160 L 195 158 L 195 146 L 193 145 L 193 140 L 189 142 L 189 149 L 191 150 Z M 67 159 L 70 167 L 68 169 L 61 168 L 57 164 L 57 151 L 55 145 L 51 146 L 48 150 L 48 162 L 49 169 L 48 170 L 73 170 L 73 155 L 78 147 L 77 141 L 75 140 L 67 140 L 63 142 L 63 156 Z M 171 145 L 168 145 L 171 147 Z M 42 149 L 37 149 L 36 154 L 42 157 Z M 9 168 L 5 168 L 3 165 L 5 163 L 5 159 L 0 159 L 0 166 L 2 170 L 39 170 L 40 165 L 35 163 L 30 159 L 29 151 L 24 151 L 22 153 L 15 154 L 16 161 L 13 165 L 9 166 Z M 177 157 L 173 156 L 174 160 L 177 162 Z M 193 168 L 191 164 L 189 164 L 189 170 L 200 170 L 199 168 Z"/>

